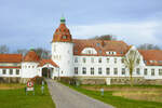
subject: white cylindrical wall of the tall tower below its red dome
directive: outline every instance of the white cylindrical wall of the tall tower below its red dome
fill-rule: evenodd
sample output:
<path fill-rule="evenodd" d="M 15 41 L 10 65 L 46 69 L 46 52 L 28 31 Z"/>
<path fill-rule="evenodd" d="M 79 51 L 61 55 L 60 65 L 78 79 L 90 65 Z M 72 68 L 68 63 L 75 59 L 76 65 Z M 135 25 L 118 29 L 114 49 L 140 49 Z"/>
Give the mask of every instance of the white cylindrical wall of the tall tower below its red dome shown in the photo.
<path fill-rule="evenodd" d="M 59 66 L 59 76 L 73 76 L 73 43 L 53 42 L 52 60 Z"/>

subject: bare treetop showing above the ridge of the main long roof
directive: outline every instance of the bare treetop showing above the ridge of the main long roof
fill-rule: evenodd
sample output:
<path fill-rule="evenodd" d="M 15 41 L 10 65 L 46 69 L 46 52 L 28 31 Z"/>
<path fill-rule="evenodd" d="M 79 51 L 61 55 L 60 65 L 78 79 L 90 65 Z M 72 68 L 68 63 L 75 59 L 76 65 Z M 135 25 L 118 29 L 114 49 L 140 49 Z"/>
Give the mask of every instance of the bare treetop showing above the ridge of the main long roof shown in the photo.
<path fill-rule="evenodd" d="M 103 35 L 103 36 L 96 36 L 91 39 L 96 39 L 96 40 L 117 40 L 114 36 L 112 35 Z"/>

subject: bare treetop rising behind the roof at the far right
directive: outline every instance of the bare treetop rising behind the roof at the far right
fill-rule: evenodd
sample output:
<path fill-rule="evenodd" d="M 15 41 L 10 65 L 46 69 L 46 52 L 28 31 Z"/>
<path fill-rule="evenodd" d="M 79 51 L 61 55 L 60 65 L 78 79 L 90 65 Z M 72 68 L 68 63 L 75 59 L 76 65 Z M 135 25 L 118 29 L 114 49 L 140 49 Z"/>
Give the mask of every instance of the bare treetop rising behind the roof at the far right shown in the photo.
<path fill-rule="evenodd" d="M 138 46 L 139 50 L 160 50 L 158 45 L 153 45 L 150 43 L 144 43 Z"/>

